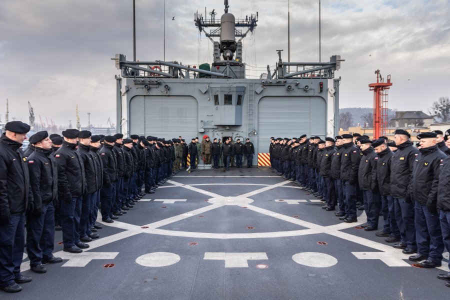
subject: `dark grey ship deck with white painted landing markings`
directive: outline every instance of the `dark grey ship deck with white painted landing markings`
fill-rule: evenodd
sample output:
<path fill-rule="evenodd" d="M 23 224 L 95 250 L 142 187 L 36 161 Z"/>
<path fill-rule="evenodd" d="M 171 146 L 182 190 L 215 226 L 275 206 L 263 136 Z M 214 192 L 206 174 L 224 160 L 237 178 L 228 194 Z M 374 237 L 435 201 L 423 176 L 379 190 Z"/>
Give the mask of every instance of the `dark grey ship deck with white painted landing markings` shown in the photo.
<path fill-rule="evenodd" d="M 56 231 L 47 272 L 1 299 L 431 299 L 446 268 L 411 266 L 268 168 L 180 171 L 80 254 Z M 360 213 L 360 211 L 359 211 Z M 380 216 L 380 224 L 382 217 Z M 99 218 L 101 220 L 101 218 Z"/>

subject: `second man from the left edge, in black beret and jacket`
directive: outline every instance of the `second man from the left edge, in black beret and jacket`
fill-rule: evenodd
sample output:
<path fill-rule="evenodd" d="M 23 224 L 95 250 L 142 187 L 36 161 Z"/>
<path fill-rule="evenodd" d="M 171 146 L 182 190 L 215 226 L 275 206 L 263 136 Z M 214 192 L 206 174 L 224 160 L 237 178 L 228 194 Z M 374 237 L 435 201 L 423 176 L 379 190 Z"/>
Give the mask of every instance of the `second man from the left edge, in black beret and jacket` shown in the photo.
<path fill-rule="evenodd" d="M 57 166 L 51 155 L 51 140 L 47 131 L 34 133 L 29 142 L 35 145 L 34 152 L 27 160 L 34 210 L 28 214 L 26 220 L 26 252 L 31 270 L 45 273 L 47 269 L 43 263 L 62 261 L 62 258 L 53 256 L 53 203 L 57 200 Z"/>

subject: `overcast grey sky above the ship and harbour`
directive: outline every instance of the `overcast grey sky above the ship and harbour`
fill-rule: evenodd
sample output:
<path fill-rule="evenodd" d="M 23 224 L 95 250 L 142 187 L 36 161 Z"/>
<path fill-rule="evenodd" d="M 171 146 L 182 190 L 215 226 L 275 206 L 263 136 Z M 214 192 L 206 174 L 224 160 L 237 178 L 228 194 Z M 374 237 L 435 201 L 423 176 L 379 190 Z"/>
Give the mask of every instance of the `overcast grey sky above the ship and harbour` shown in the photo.
<path fill-rule="evenodd" d="M 243 42 L 253 73 L 287 61 L 287 0 L 229 0 L 229 12 L 258 11 L 253 34 Z M 211 42 L 194 26 L 196 10 L 223 0 L 165 0 L 165 59 L 184 64 L 212 61 Z M 449 96 L 450 0 L 322 0 L 321 59 L 344 62 L 340 107 L 371 107 L 368 83 L 375 69 L 391 74 L 389 108 L 427 111 Z M 174 20 L 172 17 L 174 16 Z M 163 59 L 163 0 L 136 0 L 137 59 Z M 318 0 L 290 0 L 290 60 L 318 61 Z M 115 123 L 115 80 L 110 60 L 132 60 L 132 0 L 0 0 L 0 115 L 28 121 L 27 101 L 39 122 Z M 250 67 L 251 66 L 251 67 Z"/>

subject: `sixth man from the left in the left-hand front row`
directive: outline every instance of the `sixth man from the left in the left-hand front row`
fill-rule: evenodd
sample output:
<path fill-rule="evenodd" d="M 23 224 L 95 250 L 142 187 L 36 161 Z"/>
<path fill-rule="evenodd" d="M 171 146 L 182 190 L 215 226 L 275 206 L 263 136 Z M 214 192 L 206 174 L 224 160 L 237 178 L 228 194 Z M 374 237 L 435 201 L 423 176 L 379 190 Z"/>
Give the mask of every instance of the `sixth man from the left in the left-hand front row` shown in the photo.
<path fill-rule="evenodd" d="M 106 223 L 112 223 L 112 202 L 114 201 L 115 181 L 117 180 L 117 161 L 112 148 L 114 147 L 115 137 L 106 135 L 103 140 L 103 146 L 99 150 L 100 158 L 103 163 L 103 185 L 100 190 L 100 212 L 101 220 Z M 115 217 L 115 216 L 114 216 Z"/>

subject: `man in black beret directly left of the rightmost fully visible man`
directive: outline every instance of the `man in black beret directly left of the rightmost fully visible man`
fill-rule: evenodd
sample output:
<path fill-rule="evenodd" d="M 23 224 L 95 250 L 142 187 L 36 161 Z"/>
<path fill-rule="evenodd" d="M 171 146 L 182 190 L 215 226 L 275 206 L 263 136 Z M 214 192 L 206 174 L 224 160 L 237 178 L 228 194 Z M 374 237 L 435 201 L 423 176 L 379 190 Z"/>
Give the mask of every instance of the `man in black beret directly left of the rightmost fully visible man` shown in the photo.
<path fill-rule="evenodd" d="M 414 226 L 414 203 L 412 203 L 409 185 L 412 182 L 412 164 L 419 154 L 409 140 L 411 135 L 403 129 L 396 129 L 394 141 L 397 150 L 390 162 L 390 195 L 394 199 L 395 219 L 400 230 L 400 242 L 394 248 L 403 249 L 404 254 L 417 250 Z"/>

